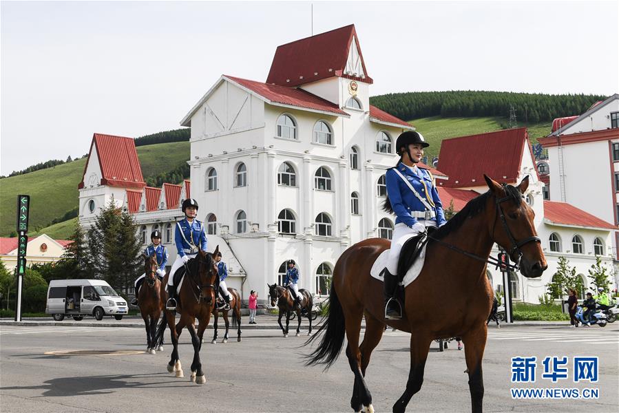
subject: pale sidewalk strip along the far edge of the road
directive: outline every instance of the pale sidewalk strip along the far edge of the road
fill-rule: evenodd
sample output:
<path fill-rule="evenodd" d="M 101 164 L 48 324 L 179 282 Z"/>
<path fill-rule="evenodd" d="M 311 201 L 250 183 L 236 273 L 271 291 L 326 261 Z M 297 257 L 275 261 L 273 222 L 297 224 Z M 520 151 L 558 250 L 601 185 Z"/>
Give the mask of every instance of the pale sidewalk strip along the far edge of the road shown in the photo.
<path fill-rule="evenodd" d="M 279 330 L 280 326 L 277 324 L 277 315 L 264 314 L 256 315 L 256 323 L 247 324 L 249 317 L 241 318 L 241 328 L 244 330 Z M 209 323 L 209 329 L 213 328 L 213 317 Z M 312 321 L 312 329 L 315 330 L 316 326 L 322 321 L 321 317 L 318 317 Z M 230 319 L 230 323 L 232 323 Z M 285 319 L 282 319 L 282 324 L 286 324 Z M 0 326 L 81 326 L 81 327 L 132 327 L 132 328 L 144 328 L 144 321 L 142 317 L 138 315 L 129 315 L 123 317 L 122 320 L 115 320 L 112 317 L 104 317 L 101 321 L 96 321 L 94 317 L 85 317 L 82 321 L 75 321 L 72 318 L 65 318 L 63 321 L 54 321 L 52 317 L 36 317 L 26 318 L 22 321 L 15 322 L 10 318 L 0 319 Z M 516 328 L 516 327 L 569 327 L 569 321 L 514 321 L 512 324 L 502 323 L 501 328 Z M 225 328 L 223 317 L 220 317 L 218 321 L 218 328 Z M 232 328 L 232 326 L 230 327 Z M 290 321 L 288 327 L 290 330 L 297 329 L 297 319 Z M 301 330 L 307 330 L 307 319 L 302 319 Z M 365 320 L 361 321 L 361 328 L 365 328 Z M 489 330 L 496 329 L 497 326 L 491 323 L 488 326 Z"/>

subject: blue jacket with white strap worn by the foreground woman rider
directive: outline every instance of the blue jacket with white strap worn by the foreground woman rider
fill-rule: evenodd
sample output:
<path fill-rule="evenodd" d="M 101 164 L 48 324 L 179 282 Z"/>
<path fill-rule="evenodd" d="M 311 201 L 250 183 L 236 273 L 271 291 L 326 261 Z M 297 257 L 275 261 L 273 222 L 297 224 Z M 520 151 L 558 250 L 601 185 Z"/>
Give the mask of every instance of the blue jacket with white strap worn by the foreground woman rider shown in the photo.
<path fill-rule="evenodd" d="M 437 213 L 436 221 L 438 226 L 445 224 L 443 204 L 439 198 L 437 188 L 432 185 L 430 173 L 426 171 L 426 169 L 417 168 L 417 173 L 419 173 L 419 175 L 417 175 L 417 173 L 413 173 L 410 168 L 406 167 L 402 162 L 399 162 L 395 168 L 399 169 L 402 175 L 408 179 L 408 182 L 410 182 L 417 193 L 421 195 L 421 198 L 428 201 L 430 206 L 434 204 L 432 211 Z M 386 173 L 387 195 L 389 196 L 391 207 L 397 216 L 395 223 L 399 224 L 403 222 L 409 227 L 412 227 L 417 224 L 417 218 L 410 215 L 410 211 L 426 211 L 426 207 L 424 207 L 421 201 L 417 199 L 417 196 L 412 193 L 406 182 L 394 171 L 395 168 L 388 169 Z M 434 220 L 434 218 L 432 218 L 432 220 Z"/>

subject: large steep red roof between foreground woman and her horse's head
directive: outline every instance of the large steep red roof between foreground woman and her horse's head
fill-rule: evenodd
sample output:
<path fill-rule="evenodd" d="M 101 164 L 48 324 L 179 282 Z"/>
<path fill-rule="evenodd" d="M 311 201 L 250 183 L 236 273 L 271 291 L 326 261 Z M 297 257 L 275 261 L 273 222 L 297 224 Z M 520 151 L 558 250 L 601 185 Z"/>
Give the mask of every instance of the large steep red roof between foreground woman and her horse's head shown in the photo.
<path fill-rule="evenodd" d="M 441 143 L 439 168 L 449 180 L 439 184 L 478 187 L 485 185 L 484 173 L 499 182 L 516 182 L 525 142 L 529 141 L 524 127 L 445 139 Z M 532 162 L 535 163 L 533 158 Z"/>

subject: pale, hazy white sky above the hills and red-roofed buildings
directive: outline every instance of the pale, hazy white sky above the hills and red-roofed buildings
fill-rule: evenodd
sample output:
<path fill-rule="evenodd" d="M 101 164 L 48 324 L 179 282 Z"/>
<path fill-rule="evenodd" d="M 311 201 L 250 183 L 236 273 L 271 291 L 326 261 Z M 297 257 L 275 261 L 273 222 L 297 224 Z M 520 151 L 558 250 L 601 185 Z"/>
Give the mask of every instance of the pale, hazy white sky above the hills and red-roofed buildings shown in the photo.
<path fill-rule="evenodd" d="M 1 1 L 0 174 L 178 129 L 220 75 L 351 23 L 372 96 L 619 93 L 618 1 Z"/>

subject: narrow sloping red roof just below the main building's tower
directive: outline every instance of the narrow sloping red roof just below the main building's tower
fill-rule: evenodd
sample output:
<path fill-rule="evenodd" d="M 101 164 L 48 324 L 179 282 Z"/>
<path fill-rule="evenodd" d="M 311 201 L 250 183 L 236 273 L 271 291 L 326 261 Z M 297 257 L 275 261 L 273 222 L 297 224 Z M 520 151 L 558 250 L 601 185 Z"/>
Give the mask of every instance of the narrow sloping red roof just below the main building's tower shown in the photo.
<path fill-rule="evenodd" d="M 304 109 L 312 109 L 348 117 L 348 114 L 339 109 L 339 106 L 335 105 L 335 103 L 319 98 L 315 94 L 311 94 L 302 89 L 280 85 L 267 85 L 266 83 L 249 81 L 234 76 L 224 75 L 224 77 L 233 83 L 238 83 L 242 87 L 250 89 L 252 92 L 259 94 L 273 103 L 282 103 L 283 105 L 302 107 Z"/>

